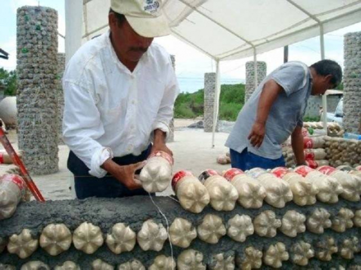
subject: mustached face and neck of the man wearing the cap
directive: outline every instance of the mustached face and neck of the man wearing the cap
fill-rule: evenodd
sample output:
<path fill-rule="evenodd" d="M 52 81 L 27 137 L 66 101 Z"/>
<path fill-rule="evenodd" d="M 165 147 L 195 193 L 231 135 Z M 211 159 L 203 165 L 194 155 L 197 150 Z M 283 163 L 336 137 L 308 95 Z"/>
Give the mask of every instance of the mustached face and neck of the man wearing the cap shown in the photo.
<path fill-rule="evenodd" d="M 125 20 L 119 23 L 114 13 L 109 14 L 112 42 L 121 60 L 138 62 L 152 44 L 153 38 L 139 36 Z"/>

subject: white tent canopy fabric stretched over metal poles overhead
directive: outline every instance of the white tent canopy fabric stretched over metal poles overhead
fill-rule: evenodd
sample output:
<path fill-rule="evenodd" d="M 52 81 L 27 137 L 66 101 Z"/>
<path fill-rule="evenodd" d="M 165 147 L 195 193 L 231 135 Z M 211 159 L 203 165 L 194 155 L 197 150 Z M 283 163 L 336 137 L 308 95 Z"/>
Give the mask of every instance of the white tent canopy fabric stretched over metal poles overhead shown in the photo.
<path fill-rule="evenodd" d="M 156 0 L 154 0 L 156 1 Z M 262 53 L 361 21 L 361 0 L 163 0 L 172 34 L 213 59 Z M 83 0 L 83 41 L 108 29 L 110 0 Z"/>

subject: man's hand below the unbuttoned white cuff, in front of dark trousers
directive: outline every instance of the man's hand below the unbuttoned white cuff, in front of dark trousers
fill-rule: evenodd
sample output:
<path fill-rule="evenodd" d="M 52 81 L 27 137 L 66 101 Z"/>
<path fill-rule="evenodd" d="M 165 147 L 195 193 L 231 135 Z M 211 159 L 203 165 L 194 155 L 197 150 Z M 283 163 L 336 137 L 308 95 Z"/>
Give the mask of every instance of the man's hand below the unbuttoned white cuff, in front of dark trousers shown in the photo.
<path fill-rule="evenodd" d="M 102 168 L 119 180 L 128 189 L 134 190 L 142 187 L 140 181 L 135 178 L 135 171 L 143 168 L 144 165 L 145 161 L 120 166 L 109 158 L 103 163 Z"/>

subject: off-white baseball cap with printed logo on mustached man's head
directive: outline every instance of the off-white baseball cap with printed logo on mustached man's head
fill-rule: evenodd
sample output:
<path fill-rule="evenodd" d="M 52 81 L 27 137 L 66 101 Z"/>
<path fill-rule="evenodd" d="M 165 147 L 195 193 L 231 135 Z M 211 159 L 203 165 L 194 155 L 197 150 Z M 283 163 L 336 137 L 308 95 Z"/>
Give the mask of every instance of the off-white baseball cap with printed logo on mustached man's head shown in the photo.
<path fill-rule="evenodd" d="M 162 12 L 163 0 L 111 0 L 111 8 L 124 14 L 140 36 L 155 38 L 169 35 L 171 30 Z"/>

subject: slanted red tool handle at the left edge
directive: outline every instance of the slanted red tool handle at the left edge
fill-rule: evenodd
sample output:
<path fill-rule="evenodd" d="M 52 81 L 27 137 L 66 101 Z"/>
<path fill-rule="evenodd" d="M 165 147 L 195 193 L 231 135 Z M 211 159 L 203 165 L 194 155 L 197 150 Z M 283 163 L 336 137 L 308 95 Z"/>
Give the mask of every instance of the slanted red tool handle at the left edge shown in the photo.
<path fill-rule="evenodd" d="M 0 127 L 0 142 L 5 148 L 7 154 L 11 157 L 12 162 L 19 167 L 21 176 L 25 180 L 26 185 L 30 189 L 31 193 L 34 195 L 35 199 L 40 202 L 45 202 L 43 195 L 40 193 L 39 189 L 35 185 L 34 181 L 31 179 L 28 171 L 25 168 L 24 163 L 21 161 L 19 156 L 16 154 L 14 148 L 12 148 L 9 140 L 7 139 L 5 133 Z"/>

